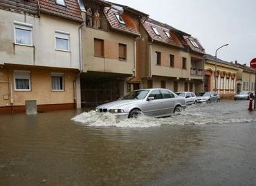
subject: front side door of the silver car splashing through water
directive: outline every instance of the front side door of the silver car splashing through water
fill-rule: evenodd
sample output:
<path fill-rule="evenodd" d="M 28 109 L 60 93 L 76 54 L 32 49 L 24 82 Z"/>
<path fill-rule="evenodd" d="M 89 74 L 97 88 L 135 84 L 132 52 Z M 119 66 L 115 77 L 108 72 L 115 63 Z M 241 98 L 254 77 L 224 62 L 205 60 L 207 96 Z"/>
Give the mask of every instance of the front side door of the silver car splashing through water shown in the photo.
<path fill-rule="evenodd" d="M 154 97 L 154 100 L 147 101 L 147 105 L 144 105 L 144 114 L 148 116 L 159 116 L 163 110 L 162 94 L 159 90 L 152 90 L 148 97 Z"/>

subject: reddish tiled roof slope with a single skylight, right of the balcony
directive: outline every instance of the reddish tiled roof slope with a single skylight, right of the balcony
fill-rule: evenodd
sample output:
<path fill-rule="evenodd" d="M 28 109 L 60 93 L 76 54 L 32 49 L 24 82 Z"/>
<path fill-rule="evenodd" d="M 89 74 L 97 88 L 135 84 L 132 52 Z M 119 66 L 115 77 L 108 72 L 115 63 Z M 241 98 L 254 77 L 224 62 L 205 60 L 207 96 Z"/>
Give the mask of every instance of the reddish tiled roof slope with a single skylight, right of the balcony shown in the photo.
<path fill-rule="evenodd" d="M 138 32 L 138 29 L 134 25 L 134 22 L 127 14 L 118 12 L 118 10 L 109 7 L 105 7 L 103 9 L 103 12 L 107 17 L 109 24 L 111 25 L 111 28 L 140 36 L 140 33 Z M 122 20 L 125 21 L 125 24 L 120 24 L 115 14 L 119 14 L 122 17 Z"/>

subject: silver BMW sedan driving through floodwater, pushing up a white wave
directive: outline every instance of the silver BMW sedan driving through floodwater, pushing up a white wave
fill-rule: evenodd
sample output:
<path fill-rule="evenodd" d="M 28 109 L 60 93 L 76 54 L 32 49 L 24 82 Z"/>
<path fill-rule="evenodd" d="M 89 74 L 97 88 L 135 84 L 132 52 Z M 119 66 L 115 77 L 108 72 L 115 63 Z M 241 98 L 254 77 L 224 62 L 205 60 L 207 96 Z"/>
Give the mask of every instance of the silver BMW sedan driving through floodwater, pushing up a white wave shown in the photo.
<path fill-rule="evenodd" d="M 143 89 L 129 92 L 117 101 L 105 103 L 95 108 L 97 114 L 110 112 L 119 118 L 136 118 L 138 114 L 152 117 L 170 116 L 185 110 L 185 98 L 162 89 Z"/>

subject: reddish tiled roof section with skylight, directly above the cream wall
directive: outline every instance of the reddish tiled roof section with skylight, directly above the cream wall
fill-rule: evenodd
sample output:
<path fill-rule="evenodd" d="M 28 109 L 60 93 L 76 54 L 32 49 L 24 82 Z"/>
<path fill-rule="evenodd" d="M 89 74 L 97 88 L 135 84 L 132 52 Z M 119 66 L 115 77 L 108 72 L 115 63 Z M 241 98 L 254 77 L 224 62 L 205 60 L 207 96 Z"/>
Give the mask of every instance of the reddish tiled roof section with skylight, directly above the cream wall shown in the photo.
<path fill-rule="evenodd" d="M 81 10 L 76 0 L 65 0 L 66 6 L 59 6 L 55 0 L 39 0 L 39 8 L 43 12 L 82 22 Z"/>

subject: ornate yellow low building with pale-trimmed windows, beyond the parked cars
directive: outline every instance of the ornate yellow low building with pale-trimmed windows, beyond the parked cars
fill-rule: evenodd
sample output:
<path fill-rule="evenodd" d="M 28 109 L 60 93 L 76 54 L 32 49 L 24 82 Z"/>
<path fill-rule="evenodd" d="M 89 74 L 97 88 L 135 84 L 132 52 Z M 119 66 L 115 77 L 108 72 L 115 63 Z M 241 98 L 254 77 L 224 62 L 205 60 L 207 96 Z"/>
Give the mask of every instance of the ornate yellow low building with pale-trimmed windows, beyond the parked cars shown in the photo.
<path fill-rule="evenodd" d="M 217 78 L 215 79 L 215 57 L 207 54 L 205 57 L 204 91 L 216 91 L 221 99 L 233 98 L 237 94 L 239 66 L 217 59 L 216 67 Z"/>

